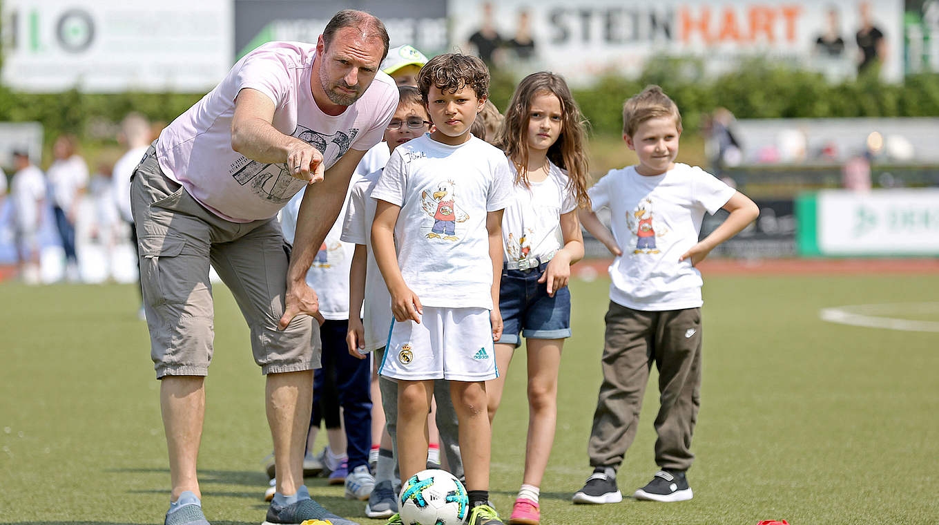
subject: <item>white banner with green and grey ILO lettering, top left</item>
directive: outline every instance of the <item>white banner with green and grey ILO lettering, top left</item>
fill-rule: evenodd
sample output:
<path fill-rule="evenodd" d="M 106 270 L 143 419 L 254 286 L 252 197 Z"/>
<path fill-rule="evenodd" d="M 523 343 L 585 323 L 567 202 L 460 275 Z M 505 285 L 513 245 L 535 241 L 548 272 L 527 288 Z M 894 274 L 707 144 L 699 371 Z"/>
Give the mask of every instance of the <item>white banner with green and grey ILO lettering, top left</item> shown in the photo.
<path fill-rule="evenodd" d="M 232 65 L 231 0 L 4 0 L 4 85 L 200 92 Z"/>

